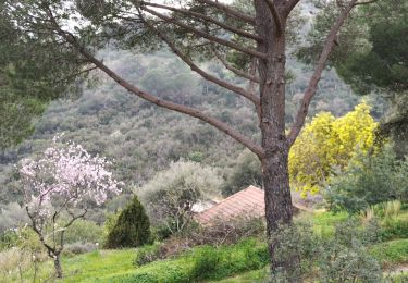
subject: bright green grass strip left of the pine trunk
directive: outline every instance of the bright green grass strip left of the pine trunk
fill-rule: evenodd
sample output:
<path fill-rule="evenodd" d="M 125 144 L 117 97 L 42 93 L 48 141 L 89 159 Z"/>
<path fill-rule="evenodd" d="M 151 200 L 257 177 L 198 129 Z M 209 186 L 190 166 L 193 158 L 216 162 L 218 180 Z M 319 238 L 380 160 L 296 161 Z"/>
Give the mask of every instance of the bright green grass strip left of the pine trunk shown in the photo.
<path fill-rule="evenodd" d="M 64 282 L 140 282 L 183 283 L 202 280 L 220 280 L 234 274 L 263 268 L 269 262 L 267 245 L 249 238 L 235 245 L 221 247 L 199 246 L 176 258 L 154 261 L 136 267 L 137 249 L 98 250 L 73 257 L 63 257 Z M 217 260 L 209 260 L 215 255 Z M 50 279 L 52 262 L 41 264 L 38 279 Z M 33 278 L 33 271 L 25 279 Z M 18 279 L 8 279 L 12 282 Z"/>

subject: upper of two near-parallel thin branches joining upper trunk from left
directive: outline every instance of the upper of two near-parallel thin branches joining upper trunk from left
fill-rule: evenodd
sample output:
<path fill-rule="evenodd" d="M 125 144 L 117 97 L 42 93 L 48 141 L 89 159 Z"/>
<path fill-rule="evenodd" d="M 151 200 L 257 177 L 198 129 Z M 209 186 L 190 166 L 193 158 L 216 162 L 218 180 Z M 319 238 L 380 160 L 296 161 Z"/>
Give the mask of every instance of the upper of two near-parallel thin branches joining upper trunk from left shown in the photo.
<path fill-rule="evenodd" d="M 197 13 L 197 12 L 194 12 L 194 11 L 190 11 L 190 10 L 187 10 L 187 9 L 180 9 L 180 8 L 174 8 L 174 7 L 163 5 L 163 4 L 157 4 L 157 3 L 149 3 L 149 2 L 140 2 L 140 3 L 144 4 L 144 5 L 166 9 L 169 11 L 178 12 L 178 13 L 183 13 L 183 14 L 186 14 L 186 15 L 191 15 L 191 16 L 205 20 L 207 22 L 213 23 L 213 24 L 224 28 L 225 30 L 230 30 L 234 34 L 254 39 L 256 41 L 262 41 L 263 40 L 262 37 L 256 35 L 256 34 L 248 33 L 246 30 L 239 29 L 237 27 L 234 27 L 234 26 L 227 25 L 223 22 L 220 22 L 218 20 L 214 20 L 211 16 L 208 16 L 208 15 L 205 15 L 205 14 L 201 14 L 201 13 Z"/>

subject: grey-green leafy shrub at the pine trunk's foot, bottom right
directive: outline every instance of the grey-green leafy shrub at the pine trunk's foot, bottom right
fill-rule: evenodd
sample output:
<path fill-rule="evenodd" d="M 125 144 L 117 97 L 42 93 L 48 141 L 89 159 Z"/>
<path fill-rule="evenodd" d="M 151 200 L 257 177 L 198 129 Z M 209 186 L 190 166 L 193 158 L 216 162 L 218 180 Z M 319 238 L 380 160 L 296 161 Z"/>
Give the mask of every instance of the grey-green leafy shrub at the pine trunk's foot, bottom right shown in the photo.
<path fill-rule="evenodd" d="M 369 248 L 379 239 L 375 223 L 360 227 L 356 221 L 336 225 L 334 236 L 320 238 L 305 222 L 281 226 L 272 235 L 280 262 L 299 260 L 294 270 L 276 270 L 273 282 L 304 281 L 310 276 L 322 282 L 380 282 L 382 270 Z"/>

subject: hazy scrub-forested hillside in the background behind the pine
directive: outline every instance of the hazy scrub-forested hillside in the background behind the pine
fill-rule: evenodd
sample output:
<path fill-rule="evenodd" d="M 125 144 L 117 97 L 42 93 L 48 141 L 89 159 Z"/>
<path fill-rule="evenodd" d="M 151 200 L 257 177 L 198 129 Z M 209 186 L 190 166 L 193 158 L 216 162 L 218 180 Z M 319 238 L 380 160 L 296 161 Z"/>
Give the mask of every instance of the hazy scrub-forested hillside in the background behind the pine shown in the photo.
<path fill-rule="evenodd" d="M 259 136 L 257 119 L 248 102 L 191 74 L 171 53 L 162 51 L 135 58 L 124 51 L 106 50 L 102 57 L 120 74 L 140 84 L 144 89 L 169 100 L 198 106 L 220 120 L 239 126 L 243 133 Z M 218 64 L 206 62 L 203 65 L 221 77 L 228 76 L 245 86 L 244 81 L 222 71 Z M 287 124 L 293 122 L 310 74 L 310 70 L 294 59 L 289 70 Z M 83 86 L 78 99 L 52 102 L 37 121 L 34 135 L 22 145 L 2 152 L 1 204 L 20 199 L 14 164 L 47 147 L 59 133 L 64 133 L 64 139 L 83 145 L 91 153 L 114 159 L 115 173 L 129 187 L 143 185 L 157 171 L 178 159 L 220 167 L 225 176 L 234 167 L 243 148 L 227 136 L 202 122 L 151 106 L 127 94 L 100 73 L 94 73 L 92 77 Z M 309 116 L 320 111 L 342 115 L 360 99 L 334 71 L 325 72 Z M 383 111 L 383 104 L 376 103 L 375 107 Z"/>

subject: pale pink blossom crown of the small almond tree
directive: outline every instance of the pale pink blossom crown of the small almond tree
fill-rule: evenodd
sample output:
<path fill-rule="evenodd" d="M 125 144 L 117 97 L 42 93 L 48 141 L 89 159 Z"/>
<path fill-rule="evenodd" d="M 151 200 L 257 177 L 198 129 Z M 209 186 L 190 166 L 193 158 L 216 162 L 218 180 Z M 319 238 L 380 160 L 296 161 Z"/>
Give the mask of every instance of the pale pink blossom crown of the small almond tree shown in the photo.
<path fill-rule="evenodd" d="M 61 144 L 52 139 L 38 159 L 25 159 L 20 168 L 26 206 L 41 217 L 58 211 L 51 202 L 58 200 L 64 209 L 85 200 L 102 205 L 109 195 L 121 193 L 122 182 L 112 177 L 104 158 L 90 156 L 81 145 Z"/>

